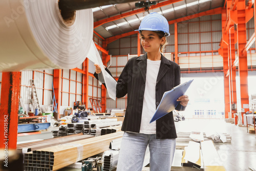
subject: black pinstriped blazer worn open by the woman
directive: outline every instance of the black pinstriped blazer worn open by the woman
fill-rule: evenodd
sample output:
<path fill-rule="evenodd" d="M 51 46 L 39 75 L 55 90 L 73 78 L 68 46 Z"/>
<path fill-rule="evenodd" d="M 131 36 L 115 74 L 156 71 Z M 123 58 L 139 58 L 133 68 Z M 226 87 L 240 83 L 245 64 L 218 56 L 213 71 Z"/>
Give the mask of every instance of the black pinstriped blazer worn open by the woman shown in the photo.
<path fill-rule="evenodd" d="M 146 81 L 147 54 L 133 57 L 126 63 L 116 86 L 116 97 L 120 98 L 127 94 L 127 107 L 122 131 L 139 133 L 143 97 Z M 106 71 L 110 71 L 106 68 Z M 111 74 L 111 73 L 110 73 Z M 98 75 L 94 73 L 98 79 Z M 180 84 L 180 67 L 177 63 L 161 56 L 161 63 L 156 82 L 156 109 L 164 92 L 172 90 Z M 176 110 L 185 108 L 178 104 Z M 157 139 L 177 138 L 173 112 L 168 113 L 156 121 Z"/>

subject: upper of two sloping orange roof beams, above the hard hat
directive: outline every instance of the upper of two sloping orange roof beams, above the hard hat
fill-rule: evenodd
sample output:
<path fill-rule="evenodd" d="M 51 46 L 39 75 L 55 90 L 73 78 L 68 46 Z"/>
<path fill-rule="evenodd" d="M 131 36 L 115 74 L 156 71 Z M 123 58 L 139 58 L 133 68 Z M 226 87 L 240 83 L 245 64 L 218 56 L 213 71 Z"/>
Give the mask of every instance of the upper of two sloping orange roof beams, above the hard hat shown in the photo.
<path fill-rule="evenodd" d="M 169 0 L 169 1 L 162 2 L 162 3 L 158 3 L 157 5 L 151 6 L 150 10 L 160 8 L 160 7 L 163 7 L 163 6 L 166 6 L 166 5 L 170 5 L 170 4 L 173 4 L 173 3 L 177 3 L 177 2 L 180 2 L 180 1 L 183 1 L 183 0 Z M 132 15 L 135 15 L 135 14 L 142 13 L 144 11 L 145 10 L 143 8 L 140 8 L 138 10 L 134 10 L 134 11 L 131 11 L 131 12 L 126 12 L 126 13 L 123 13 L 123 14 L 120 14 L 120 15 L 116 15 L 116 16 L 112 16 L 112 17 L 109 17 L 109 18 L 106 18 L 106 19 L 99 20 L 98 22 L 94 22 L 94 28 L 99 27 L 100 25 L 103 25 L 105 23 L 113 22 L 114 20 L 117 20 L 117 19 L 121 19 L 121 18 L 124 18 L 124 17 L 128 17 L 128 16 L 132 16 Z"/>

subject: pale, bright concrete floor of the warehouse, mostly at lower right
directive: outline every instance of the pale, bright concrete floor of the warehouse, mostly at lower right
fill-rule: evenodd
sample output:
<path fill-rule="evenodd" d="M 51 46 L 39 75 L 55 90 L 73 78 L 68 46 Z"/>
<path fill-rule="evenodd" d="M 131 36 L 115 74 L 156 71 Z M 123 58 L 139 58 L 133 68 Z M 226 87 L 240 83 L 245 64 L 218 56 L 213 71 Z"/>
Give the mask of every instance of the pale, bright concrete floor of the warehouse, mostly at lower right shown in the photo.
<path fill-rule="evenodd" d="M 247 133 L 246 127 L 226 123 L 223 119 L 186 119 L 175 122 L 177 132 L 216 131 L 231 135 L 231 143 L 215 143 L 219 156 L 228 171 L 256 170 L 256 135 Z M 62 168 L 60 171 L 80 171 L 78 168 Z M 181 167 L 172 170 L 199 170 Z M 202 169 L 201 169 L 202 170 Z"/>

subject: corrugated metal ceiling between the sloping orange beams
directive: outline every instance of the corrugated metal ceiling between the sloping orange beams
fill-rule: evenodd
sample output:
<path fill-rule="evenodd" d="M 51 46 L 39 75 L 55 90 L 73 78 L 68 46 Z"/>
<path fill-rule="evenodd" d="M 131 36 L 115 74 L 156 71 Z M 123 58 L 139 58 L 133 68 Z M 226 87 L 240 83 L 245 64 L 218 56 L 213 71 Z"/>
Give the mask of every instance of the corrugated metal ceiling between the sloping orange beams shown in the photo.
<path fill-rule="evenodd" d="M 158 3 L 163 3 L 167 1 L 157 1 Z M 112 37 L 115 35 L 119 35 L 122 33 L 127 33 L 138 29 L 141 17 L 147 15 L 151 12 L 159 12 L 163 14 L 163 16 L 168 20 L 174 20 L 177 18 L 182 18 L 185 16 L 189 16 L 192 14 L 204 12 L 207 10 L 215 9 L 218 7 L 223 7 L 224 0 L 184 0 L 179 1 L 174 4 L 168 4 L 162 6 L 160 8 L 155 8 L 153 10 L 141 12 L 135 15 L 127 16 L 124 18 L 113 20 L 112 22 L 104 23 L 94 30 L 99 33 L 102 37 Z M 102 19 L 106 19 L 113 16 L 118 16 L 123 13 L 132 12 L 134 10 L 138 10 L 139 8 L 135 7 L 134 3 L 126 3 L 126 4 L 116 4 L 110 6 L 103 6 L 93 9 L 94 22 L 98 22 Z M 131 22 L 132 20 L 132 22 Z M 129 24 L 127 23 L 129 22 Z M 118 27 L 114 27 L 111 29 L 106 29 L 109 26 L 117 25 Z"/>

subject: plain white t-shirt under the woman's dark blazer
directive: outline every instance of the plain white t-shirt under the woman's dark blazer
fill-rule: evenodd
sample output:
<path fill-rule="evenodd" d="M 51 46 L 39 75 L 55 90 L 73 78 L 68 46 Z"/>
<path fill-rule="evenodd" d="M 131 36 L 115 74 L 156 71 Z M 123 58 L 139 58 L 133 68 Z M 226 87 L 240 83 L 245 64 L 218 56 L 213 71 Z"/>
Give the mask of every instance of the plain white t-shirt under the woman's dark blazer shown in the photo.
<path fill-rule="evenodd" d="M 147 59 L 146 85 L 140 123 L 141 134 L 156 134 L 156 121 L 150 123 L 156 112 L 156 82 L 161 60 Z"/>

